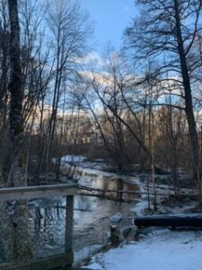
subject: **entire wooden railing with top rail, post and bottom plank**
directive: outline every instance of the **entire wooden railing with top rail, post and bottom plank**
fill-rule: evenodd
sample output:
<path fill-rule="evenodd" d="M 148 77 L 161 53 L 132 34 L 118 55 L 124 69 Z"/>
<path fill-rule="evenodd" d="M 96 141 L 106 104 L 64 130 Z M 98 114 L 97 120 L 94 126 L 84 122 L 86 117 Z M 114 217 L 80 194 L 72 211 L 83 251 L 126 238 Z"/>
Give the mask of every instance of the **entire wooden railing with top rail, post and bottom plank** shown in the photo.
<path fill-rule="evenodd" d="M 13 188 L 0 188 L 0 201 L 31 200 L 45 197 L 58 197 L 66 195 L 66 233 L 65 252 L 51 257 L 32 259 L 22 262 L 18 266 L 12 264 L 0 265 L 1 270 L 48 270 L 61 266 L 71 266 L 74 262 L 73 253 L 73 214 L 74 195 L 77 194 L 77 184 L 53 184 L 39 186 L 23 186 Z"/>

